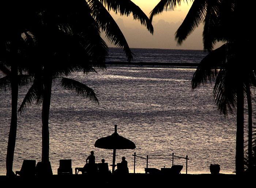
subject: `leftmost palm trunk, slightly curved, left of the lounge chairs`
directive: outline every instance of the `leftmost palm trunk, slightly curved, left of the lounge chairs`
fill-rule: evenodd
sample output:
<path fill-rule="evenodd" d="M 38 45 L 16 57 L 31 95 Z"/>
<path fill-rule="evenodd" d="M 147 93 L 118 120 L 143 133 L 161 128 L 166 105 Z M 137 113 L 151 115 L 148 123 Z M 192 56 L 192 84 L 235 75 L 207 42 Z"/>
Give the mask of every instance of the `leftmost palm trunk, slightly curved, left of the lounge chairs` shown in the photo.
<path fill-rule="evenodd" d="M 14 150 L 16 143 L 16 132 L 17 132 L 17 105 L 18 105 L 18 66 L 15 61 L 12 62 L 11 66 L 11 97 L 12 97 L 12 115 L 11 125 L 7 145 L 6 155 L 6 175 L 15 175 L 12 171 L 12 164 L 14 159 Z"/>

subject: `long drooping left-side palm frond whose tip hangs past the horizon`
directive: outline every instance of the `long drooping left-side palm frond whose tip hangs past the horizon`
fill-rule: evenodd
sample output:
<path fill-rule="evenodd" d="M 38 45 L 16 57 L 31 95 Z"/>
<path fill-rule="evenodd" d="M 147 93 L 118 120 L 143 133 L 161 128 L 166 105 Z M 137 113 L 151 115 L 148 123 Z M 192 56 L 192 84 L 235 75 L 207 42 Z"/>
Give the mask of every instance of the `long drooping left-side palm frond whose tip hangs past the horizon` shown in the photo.
<path fill-rule="evenodd" d="M 94 19 L 99 24 L 99 27 L 102 28 L 102 31 L 105 31 L 109 41 L 117 47 L 123 47 L 128 62 L 130 62 L 132 60 L 131 49 L 116 21 L 98 0 L 90 0 L 89 6 Z"/>

